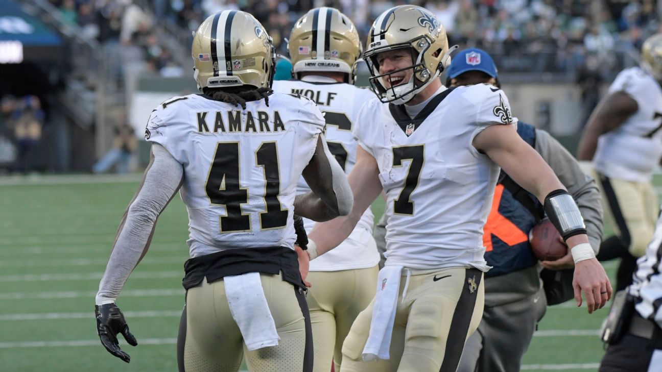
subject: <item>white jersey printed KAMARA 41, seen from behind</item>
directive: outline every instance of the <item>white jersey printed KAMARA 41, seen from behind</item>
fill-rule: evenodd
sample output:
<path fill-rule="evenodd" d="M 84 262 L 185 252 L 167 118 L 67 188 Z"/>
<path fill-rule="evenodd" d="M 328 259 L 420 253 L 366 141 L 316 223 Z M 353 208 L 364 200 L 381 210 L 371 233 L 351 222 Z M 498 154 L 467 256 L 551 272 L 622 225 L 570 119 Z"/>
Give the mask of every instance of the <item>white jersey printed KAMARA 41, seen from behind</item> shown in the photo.
<path fill-rule="evenodd" d="M 324 130 L 316 105 L 274 93 L 241 107 L 203 95 L 174 97 L 150 116 L 146 140 L 184 167 L 191 257 L 230 248 L 286 246 L 297 182 Z"/>

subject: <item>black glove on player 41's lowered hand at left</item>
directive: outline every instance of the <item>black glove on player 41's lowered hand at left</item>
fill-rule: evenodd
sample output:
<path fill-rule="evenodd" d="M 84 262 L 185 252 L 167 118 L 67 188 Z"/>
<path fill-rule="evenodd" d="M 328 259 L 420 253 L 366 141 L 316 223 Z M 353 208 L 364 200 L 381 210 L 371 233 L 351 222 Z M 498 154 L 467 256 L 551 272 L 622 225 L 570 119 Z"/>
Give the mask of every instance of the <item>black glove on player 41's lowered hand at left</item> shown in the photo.
<path fill-rule="evenodd" d="M 138 341 L 128 330 L 122 310 L 116 304 L 103 304 L 95 305 L 94 313 L 97 316 L 97 332 L 101 345 L 126 363 L 131 361 L 131 357 L 120 349 L 117 342 L 117 334 L 121 333 L 130 346 L 138 345 Z"/>

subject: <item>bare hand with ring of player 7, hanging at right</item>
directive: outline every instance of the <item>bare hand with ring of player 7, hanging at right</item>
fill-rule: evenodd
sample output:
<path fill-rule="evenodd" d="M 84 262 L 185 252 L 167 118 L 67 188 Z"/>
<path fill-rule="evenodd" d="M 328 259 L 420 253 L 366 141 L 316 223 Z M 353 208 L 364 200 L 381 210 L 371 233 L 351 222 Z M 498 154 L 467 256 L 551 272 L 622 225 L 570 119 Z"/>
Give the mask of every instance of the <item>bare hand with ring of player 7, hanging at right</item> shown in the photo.
<path fill-rule="evenodd" d="M 612 285 L 596 258 L 585 259 L 575 264 L 573 289 L 578 307 L 581 306 L 581 294 L 582 291 L 584 292 L 589 314 L 602 308 L 612 298 Z"/>

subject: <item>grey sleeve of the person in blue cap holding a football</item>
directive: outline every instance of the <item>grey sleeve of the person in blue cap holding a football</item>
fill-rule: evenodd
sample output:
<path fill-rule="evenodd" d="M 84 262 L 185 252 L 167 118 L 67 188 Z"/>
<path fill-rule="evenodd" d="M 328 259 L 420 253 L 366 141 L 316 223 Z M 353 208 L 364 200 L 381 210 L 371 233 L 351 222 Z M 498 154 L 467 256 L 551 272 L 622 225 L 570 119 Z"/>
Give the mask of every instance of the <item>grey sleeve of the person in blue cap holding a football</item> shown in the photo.
<path fill-rule="evenodd" d="M 602 205 L 595 180 L 586 175 L 577 160 L 544 130 L 536 130 L 536 151 L 575 199 L 584 218 L 591 247 L 597 253 L 602 242 Z"/>

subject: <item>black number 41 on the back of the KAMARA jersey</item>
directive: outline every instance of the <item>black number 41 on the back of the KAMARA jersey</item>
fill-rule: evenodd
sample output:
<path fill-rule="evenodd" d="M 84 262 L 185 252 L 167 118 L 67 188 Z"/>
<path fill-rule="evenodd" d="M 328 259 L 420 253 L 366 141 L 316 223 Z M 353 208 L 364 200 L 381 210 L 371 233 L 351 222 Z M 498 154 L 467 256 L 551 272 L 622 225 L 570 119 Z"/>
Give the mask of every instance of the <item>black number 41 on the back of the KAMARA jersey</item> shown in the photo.
<path fill-rule="evenodd" d="M 287 224 L 287 209 L 278 200 L 280 172 L 275 142 L 264 142 L 256 152 L 258 165 L 265 177 L 264 201 L 266 211 L 260 213 L 263 229 L 282 228 Z M 226 216 L 220 216 L 220 232 L 250 231 L 250 215 L 242 213 L 248 203 L 248 189 L 240 185 L 239 142 L 219 142 L 209 169 L 205 191 L 214 205 L 224 205 Z"/>

